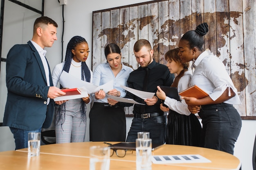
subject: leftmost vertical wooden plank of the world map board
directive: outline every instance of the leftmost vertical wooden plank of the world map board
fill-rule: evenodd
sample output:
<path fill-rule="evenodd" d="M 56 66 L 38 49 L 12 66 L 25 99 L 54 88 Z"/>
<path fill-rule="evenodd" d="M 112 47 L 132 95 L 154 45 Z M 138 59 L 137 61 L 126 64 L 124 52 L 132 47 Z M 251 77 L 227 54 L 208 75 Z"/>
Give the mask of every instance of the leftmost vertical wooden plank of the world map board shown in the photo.
<path fill-rule="evenodd" d="M 101 13 L 92 15 L 92 71 L 101 63 Z"/>

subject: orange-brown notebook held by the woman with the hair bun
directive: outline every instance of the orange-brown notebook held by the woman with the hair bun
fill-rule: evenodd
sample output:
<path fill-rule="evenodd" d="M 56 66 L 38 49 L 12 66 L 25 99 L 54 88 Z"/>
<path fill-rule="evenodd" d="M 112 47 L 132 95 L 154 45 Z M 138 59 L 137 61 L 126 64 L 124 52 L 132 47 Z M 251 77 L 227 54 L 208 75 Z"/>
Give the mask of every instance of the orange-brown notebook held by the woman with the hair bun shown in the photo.
<path fill-rule="evenodd" d="M 204 92 L 197 85 L 193 85 L 193 86 L 189 87 L 188 89 L 183 90 L 179 94 L 180 94 L 180 96 L 195 97 L 197 99 L 201 99 L 201 98 L 205 98 L 205 97 L 209 96 L 209 94 Z"/>

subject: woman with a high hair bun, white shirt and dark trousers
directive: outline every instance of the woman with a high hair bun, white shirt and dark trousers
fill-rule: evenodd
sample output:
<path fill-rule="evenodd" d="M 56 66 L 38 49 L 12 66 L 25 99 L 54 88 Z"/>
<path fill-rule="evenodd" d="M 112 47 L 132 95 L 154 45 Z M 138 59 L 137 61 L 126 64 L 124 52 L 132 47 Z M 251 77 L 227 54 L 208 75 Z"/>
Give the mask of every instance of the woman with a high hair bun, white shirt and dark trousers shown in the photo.
<path fill-rule="evenodd" d="M 197 99 L 182 97 L 191 113 L 202 119 L 202 147 L 234 153 L 234 144 L 241 130 L 242 120 L 233 105 L 239 105 L 237 90 L 225 65 L 209 50 L 203 51 L 203 36 L 208 32 L 207 23 L 186 32 L 179 42 L 182 63 L 193 61 L 195 69 L 190 86 L 197 85 L 209 96 Z"/>

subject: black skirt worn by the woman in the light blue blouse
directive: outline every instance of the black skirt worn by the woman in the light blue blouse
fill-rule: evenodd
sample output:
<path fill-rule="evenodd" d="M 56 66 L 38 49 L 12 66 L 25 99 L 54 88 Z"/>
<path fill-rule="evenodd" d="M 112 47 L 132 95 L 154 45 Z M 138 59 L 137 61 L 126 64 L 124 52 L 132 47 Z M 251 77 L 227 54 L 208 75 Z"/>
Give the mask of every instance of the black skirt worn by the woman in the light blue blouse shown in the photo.
<path fill-rule="evenodd" d="M 105 105 L 105 106 L 104 106 Z M 126 140 L 124 107 L 110 107 L 108 103 L 94 102 L 89 113 L 90 141 Z"/>

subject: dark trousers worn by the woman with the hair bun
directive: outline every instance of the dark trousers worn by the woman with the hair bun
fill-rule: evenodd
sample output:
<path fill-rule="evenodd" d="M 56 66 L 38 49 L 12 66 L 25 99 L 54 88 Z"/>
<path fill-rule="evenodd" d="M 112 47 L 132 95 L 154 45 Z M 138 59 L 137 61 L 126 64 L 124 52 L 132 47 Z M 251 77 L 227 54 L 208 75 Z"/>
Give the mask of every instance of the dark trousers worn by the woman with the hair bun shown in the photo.
<path fill-rule="evenodd" d="M 202 147 L 234 153 L 234 144 L 242 127 L 242 120 L 233 105 L 220 103 L 203 105 L 198 113 L 202 119 Z"/>

